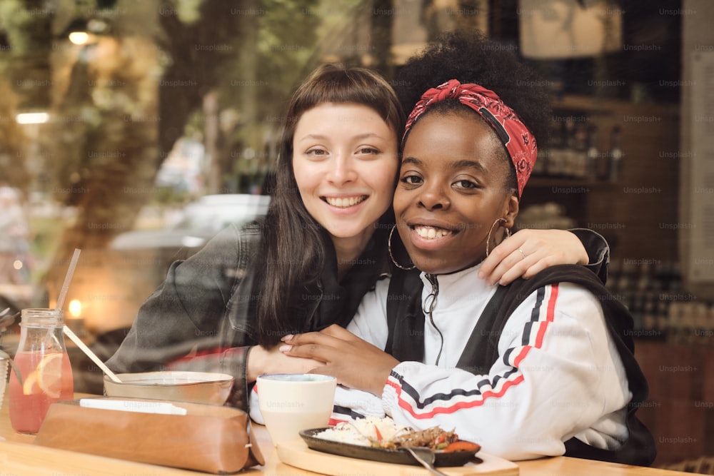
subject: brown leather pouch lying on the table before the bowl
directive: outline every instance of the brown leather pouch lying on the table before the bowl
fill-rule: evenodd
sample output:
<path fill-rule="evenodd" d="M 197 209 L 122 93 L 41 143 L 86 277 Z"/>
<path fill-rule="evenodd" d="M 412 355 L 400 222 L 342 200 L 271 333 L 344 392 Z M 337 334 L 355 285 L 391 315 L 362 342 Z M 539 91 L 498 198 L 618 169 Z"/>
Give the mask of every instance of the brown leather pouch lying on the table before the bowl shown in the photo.
<path fill-rule="evenodd" d="M 157 402 L 111 398 L 127 402 Z M 86 408 L 79 400 L 53 403 L 36 445 L 216 474 L 265 464 L 242 410 L 171 402 L 186 415 Z M 131 406 L 131 405 L 127 405 Z"/>

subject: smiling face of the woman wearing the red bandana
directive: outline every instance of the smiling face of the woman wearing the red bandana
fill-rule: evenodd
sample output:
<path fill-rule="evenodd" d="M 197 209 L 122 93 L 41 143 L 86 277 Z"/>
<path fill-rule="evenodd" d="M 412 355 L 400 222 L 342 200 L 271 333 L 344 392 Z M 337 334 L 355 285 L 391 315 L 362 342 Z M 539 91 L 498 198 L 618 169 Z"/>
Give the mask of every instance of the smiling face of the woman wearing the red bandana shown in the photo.
<path fill-rule="evenodd" d="M 394 213 L 411 260 L 426 273 L 468 268 L 486 257 L 498 218 L 513 226 L 518 198 L 508 188 L 508 158 L 476 113 L 431 113 L 404 144 Z M 491 236 L 500 240 L 503 228 Z"/>

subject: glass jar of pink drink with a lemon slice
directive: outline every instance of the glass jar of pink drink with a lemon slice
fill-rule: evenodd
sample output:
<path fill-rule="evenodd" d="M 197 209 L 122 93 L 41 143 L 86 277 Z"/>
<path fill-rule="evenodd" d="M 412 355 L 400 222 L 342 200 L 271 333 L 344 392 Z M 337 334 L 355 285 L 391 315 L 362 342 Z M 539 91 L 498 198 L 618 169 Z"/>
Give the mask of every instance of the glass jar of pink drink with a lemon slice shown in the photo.
<path fill-rule="evenodd" d="M 61 309 L 23 309 L 20 342 L 10 375 L 10 422 L 16 432 L 34 435 L 49 406 L 74 397 L 74 381 L 64 345 Z"/>

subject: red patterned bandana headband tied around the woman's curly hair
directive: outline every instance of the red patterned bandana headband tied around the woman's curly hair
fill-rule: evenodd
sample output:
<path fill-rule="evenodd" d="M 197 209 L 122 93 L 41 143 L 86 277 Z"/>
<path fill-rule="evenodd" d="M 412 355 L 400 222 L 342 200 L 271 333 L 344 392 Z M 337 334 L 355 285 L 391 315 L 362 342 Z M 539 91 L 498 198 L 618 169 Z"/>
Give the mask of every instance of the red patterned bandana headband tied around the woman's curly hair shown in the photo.
<path fill-rule="evenodd" d="M 511 156 L 513 166 L 516 167 L 518 197 L 520 197 L 533 171 L 538 146 L 535 144 L 533 134 L 526 124 L 521 122 L 516 111 L 506 106 L 498 94 L 491 89 L 473 83 L 461 84 L 456 79 L 450 79 L 441 86 L 429 89 L 423 93 L 421 100 L 409 114 L 402 142 L 406 140 L 409 129 L 428 106 L 448 98 L 458 98 L 459 102 L 476 111 L 496 131 L 501 143 L 506 146 L 508 155 Z"/>

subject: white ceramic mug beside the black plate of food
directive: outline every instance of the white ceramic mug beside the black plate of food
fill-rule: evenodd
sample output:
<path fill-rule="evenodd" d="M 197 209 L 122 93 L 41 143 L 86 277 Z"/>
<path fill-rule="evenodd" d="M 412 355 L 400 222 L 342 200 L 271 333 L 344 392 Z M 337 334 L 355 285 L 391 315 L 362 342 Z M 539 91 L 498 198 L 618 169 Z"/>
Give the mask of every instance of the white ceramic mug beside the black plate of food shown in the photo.
<path fill-rule="evenodd" d="M 299 432 L 326 427 L 332 415 L 337 379 L 311 373 L 258 377 L 258 406 L 273 445 L 300 440 Z"/>

